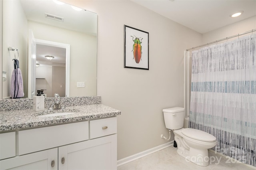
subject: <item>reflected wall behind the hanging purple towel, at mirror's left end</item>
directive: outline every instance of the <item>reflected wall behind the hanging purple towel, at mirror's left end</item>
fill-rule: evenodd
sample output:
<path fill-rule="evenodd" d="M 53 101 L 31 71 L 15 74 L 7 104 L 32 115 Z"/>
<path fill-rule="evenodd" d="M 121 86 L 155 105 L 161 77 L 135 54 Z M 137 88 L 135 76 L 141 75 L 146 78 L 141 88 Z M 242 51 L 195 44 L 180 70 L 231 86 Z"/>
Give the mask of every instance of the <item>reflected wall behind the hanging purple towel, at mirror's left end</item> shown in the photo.
<path fill-rule="evenodd" d="M 10 97 L 10 81 L 14 69 L 14 51 L 8 47 L 17 48 L 19 51 L 20 70 L 22 72 L 24 94 L 26 97 L 27 84 L 27 20 L 20 1 L 3 1 L 3 63 L 2 69 L 7 71 L 7 80 L 2 83 L 2 97 Z M 17 56 L 17 55 L 16 55 Z"/>

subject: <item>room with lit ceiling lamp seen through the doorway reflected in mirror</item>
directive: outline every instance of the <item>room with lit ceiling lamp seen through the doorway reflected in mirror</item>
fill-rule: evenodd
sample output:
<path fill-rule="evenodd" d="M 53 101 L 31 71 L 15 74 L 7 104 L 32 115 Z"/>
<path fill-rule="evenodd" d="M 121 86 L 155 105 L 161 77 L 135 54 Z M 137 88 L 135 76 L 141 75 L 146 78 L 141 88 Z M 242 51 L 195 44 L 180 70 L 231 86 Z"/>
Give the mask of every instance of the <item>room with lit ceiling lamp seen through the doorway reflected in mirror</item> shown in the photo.
<path fill-rule="evenodd" d="M 36 93 L 66 97 L 66 49 L 36 45 Z M 38 94 L 37 94 L 38 95 Z"/>

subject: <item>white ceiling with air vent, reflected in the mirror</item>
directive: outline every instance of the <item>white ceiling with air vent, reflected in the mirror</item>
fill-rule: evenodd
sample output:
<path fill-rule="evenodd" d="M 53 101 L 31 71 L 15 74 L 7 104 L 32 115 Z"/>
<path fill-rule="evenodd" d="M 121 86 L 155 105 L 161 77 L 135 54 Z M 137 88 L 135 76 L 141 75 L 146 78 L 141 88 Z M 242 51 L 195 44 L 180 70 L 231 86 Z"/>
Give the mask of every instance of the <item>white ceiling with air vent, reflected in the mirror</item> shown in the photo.
<path fill-rule="evenodd" d="M 97 15 L 86 10 L 74 10 L 64 2 L 57 4 L 56 0 L 20 0 L 26 18 L 68 30 L 74 30 L 90 35 L 97 34 Z M 63 18 L 63 22 L 46 18 L 45 14 Z"/>

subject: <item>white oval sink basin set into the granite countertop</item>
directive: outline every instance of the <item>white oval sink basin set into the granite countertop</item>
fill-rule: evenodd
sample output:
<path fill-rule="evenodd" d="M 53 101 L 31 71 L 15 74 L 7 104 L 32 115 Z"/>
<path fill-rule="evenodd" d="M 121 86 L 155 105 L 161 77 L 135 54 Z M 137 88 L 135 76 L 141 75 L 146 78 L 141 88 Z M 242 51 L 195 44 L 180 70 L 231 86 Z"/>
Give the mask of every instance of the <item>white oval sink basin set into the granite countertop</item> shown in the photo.
<path fill-rule="evenodd" d="M 34 113 L 36 117 L 55 117 L 55 116 L 65 116 L 78 113 L 80 110 L 77 109 L 56 109 L 56 110 L 46 110 Z"/>

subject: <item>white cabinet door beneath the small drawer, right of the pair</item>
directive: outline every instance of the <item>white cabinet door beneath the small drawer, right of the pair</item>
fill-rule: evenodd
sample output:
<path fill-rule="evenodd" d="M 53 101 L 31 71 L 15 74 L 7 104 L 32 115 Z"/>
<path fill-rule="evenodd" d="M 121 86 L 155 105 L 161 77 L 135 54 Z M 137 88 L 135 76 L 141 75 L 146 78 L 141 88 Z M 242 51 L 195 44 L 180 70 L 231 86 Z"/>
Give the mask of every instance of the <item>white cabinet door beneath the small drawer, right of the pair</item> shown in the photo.
<path fill-rule="evenodd" d="M 59 170 L 116 169 L 116 134 L 59 147 Z"/>

